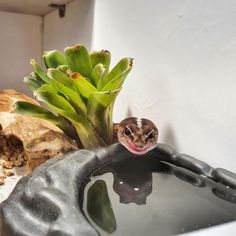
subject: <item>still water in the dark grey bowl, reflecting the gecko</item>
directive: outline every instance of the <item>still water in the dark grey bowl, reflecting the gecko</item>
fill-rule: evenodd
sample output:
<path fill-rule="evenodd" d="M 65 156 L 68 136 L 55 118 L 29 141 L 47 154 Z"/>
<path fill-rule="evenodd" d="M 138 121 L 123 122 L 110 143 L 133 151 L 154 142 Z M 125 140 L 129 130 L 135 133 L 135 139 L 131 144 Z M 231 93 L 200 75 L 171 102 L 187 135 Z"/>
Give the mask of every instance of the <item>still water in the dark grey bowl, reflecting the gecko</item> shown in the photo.
<path fill-rule="evenodd" d="M 130 159 L 94 173 L 83 210 L 101 235 L 173 235 L 236 220 L 236 190 L 174 165 Z"/>

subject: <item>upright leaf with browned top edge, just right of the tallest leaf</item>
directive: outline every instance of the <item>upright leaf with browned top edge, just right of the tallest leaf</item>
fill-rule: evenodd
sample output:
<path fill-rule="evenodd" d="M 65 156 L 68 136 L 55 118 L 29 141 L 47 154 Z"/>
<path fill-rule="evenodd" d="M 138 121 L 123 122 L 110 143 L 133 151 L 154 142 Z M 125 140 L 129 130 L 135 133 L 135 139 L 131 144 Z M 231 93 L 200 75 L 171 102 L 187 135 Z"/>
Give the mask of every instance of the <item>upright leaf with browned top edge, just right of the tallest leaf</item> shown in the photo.
<path fill-rule="evenodd" d="M 100 64 L 100 63 L 103 64 L 106 69 L 105 75 L 107 74 L 107 72 L 109 71 L 109 66 L 111 62 L 111 53 L 109 51 L 107 50 L 95 51 L 90 54 L 90 59 L 91 59 L 93 68 L 97 64 Z"/>

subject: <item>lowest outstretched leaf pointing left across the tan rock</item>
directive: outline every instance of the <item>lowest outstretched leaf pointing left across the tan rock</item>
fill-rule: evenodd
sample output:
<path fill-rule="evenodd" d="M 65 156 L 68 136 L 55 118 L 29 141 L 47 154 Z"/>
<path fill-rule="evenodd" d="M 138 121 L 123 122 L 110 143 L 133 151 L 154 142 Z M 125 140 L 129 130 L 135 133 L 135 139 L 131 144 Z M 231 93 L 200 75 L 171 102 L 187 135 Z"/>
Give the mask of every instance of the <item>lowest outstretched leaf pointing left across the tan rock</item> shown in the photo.
<path fill-rule="evenodd" d="M 57 116 L 41 106 L 24 101 L 17 101 L 14 106 L 14 111 L 21 115 L 42 118 L 51 121 L 54 124 L 59 123 L 59 119 Z"/>

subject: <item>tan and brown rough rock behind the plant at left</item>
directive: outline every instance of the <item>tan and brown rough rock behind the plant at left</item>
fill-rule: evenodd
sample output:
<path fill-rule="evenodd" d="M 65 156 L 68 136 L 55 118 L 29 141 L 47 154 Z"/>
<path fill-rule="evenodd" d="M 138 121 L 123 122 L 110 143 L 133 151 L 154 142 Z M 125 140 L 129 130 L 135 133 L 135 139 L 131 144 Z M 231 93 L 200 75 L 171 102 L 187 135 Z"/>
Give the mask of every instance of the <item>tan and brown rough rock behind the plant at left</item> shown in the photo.
<path fill-rule="evenodd" d="M 75 150 L 76 144 L 50 122 L 14 113 L 18 100 L 38 104 L 34 99 L 14 90 L 0 92 L 0 157 L 3 166 L 22 166 L 31 170 L 46 160 Z"/>

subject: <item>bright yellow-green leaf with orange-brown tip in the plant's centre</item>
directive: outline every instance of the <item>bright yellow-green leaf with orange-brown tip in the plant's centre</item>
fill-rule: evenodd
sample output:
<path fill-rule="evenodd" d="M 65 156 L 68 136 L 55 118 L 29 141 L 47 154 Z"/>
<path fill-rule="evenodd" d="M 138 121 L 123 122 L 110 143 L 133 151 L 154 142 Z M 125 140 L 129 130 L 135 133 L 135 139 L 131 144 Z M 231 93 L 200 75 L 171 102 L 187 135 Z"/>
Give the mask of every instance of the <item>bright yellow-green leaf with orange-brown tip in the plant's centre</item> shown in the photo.
<path fill-rule="evenodd" d="M 71 74 L 71 80 L 85 99 L 88 99 L 91 93 L 97 92 L 97 89 L 79 73 Z"/>

